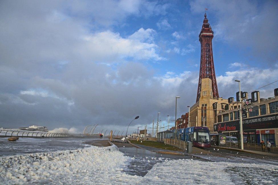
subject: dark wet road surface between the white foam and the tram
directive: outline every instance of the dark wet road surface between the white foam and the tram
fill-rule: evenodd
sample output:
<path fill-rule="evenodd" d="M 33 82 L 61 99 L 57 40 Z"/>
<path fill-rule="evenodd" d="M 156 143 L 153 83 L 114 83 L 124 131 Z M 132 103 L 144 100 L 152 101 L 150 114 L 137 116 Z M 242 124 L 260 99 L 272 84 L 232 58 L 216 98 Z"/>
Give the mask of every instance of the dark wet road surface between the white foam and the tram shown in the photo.
<path fill-rule="evenodd" d="M 246 163 L 246 164 L 274 164 L 278 165 L 277 157 L 262 156 L 246 152 L 231 151 L 227 149 L 206 148 L 200 149 L 200 153 L 187 154 L 183 152 L 176 152 L 177 154 L 163 154 L 168 150 L 156 149 L 144 145 L 138 145 L 144 149 L 136 148 L 128 143 L 114 143 L 124 155 L 131 159 L 127 164 L 123 165 L 123 171 L 127 174 L 145 176 L 150 169 L 156 164 L 168 160 L 177 159 L 194 159 L 200 161 L 210 162 L 232 162 L 232 163 Z M 173 152 L 173 151 L 170 151 Z M 227 168 L 229 173 L 236 171 L 234 168 Z M 241 169 L 238 169 L 239 171 Z M 243 169 L 242 169 L 243 170 Z M 252 169 L 250 169 L 252 170 Z M 253 169 L 254 170 L 254 169 Z M 227 172 L 228 172 L 227 171 Z M 238 172 L 236 172 L 238 173 Z M 276 175 L 276 174 L 274 174 Z M 278 175 L 278 174 L 277 174 Z M 276 178 L 276 177 L 275 177 Z M 246 179 L 248 184 L 248 179 Z"/>

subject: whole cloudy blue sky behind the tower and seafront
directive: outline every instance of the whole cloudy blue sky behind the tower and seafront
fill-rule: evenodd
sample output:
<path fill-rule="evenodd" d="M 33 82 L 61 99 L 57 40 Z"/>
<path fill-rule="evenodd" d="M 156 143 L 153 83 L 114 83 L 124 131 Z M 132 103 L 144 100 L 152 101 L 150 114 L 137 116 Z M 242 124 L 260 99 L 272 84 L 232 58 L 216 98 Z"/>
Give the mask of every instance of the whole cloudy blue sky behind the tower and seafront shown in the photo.
<path fill-rule="evenodd" d="M 166 126 L 196 102 L 205 8 L 220 97 L 278 80 L 278 1 L 0 1 L 0 127 Z"/>

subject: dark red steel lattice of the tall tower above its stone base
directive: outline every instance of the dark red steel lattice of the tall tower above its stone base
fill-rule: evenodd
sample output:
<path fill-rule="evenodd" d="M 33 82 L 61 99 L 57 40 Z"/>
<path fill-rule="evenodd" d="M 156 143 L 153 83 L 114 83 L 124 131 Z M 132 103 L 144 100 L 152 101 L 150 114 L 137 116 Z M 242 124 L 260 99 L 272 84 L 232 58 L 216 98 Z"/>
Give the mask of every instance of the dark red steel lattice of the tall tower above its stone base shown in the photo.
<path fill-rule="evenodd" d="M 212 38 L 213 31 L 209 25 L 207 14 L 203 22 L 202 30 L 199 34 L 199 41 L 201 43 L 201 63 L 200 63 L 200 75 L 196 102 L 201 97 L 201 85 L 203 78 L 210 78 L 212 81 L 212 94 L 214 98 L 218 98 L 218 88 L 215 77 L 213 55 L 212 55 Z M 210 92 L 209 92 L 210 93 Z"/>

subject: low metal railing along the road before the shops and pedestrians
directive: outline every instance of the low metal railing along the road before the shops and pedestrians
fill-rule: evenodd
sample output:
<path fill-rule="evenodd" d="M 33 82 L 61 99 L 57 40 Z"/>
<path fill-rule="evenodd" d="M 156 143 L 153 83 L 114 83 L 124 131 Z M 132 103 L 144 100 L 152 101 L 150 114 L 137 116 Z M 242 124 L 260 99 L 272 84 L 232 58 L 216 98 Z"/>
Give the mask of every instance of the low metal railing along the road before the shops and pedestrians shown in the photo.
<path fill-rule="evenodd" d="M 211 145 L 216 146 L 216 145 Z M 226 145 L 221 145 L 220 147 L 228 147 L 228 148 L 238 148 L 240 149 L 240 143 L 227 143 Z M 264 150 L 267 152 L 267 145 L 266 144 L 257 144 L 257 143 L 243 143 L 243 148 L 246 150 L 256 150 L 256 151 L 263 151 Z M 270 152 L 273 153 L 278 153 L 278 145 L 271 145 L 270 147 Z"/>

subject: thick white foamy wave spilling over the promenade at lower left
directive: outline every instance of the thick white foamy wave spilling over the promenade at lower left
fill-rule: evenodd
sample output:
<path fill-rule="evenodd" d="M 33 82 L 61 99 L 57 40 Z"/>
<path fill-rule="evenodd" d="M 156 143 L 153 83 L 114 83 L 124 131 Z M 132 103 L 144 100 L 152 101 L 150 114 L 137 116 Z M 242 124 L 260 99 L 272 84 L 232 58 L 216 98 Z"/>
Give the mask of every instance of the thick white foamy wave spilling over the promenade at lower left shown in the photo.
<path fill-rule="evenodd" d="M 78 150 L 0 157 L 0 184 L 136 183 L 139 176 L 122 173 L 128 159 L 118 148 Z M 118 183 L 120 184 L 120 183 Z"/>

